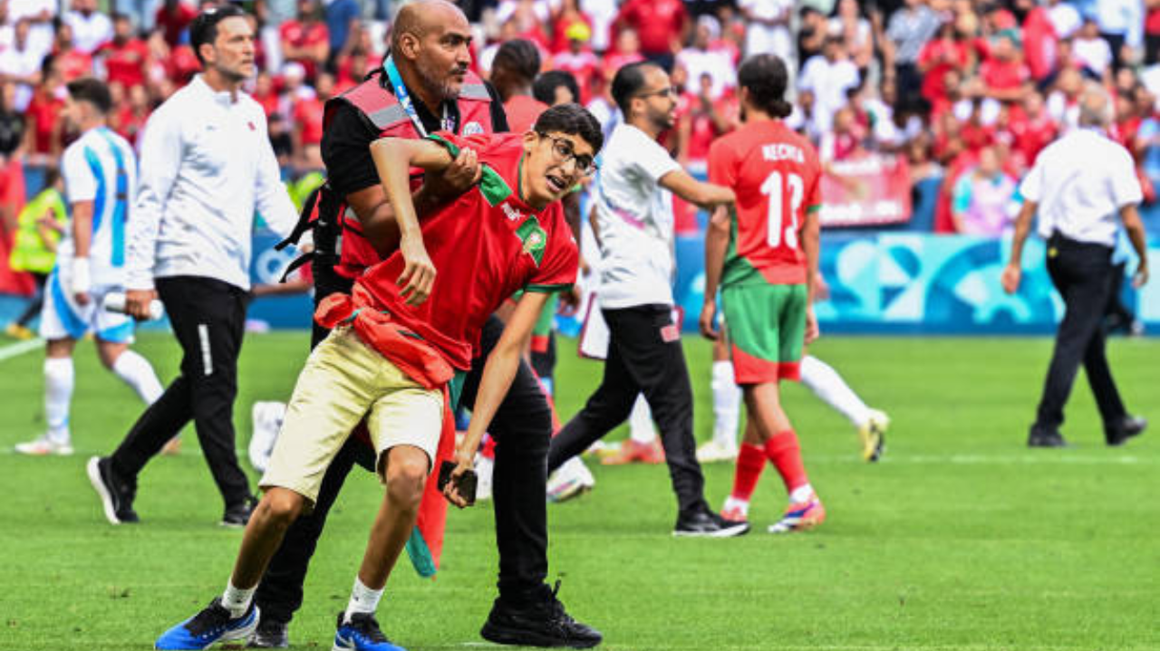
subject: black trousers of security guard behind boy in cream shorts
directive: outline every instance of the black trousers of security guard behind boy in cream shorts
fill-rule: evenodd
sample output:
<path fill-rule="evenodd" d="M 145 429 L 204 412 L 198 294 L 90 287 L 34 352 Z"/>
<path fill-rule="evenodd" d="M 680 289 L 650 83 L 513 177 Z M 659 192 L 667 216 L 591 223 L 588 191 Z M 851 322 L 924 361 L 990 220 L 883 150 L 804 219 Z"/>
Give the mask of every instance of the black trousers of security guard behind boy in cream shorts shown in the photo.
<path fill-rule="evenodd" d="M 314 300 L 334 292 L 349 292 L 350 280 L 325 270 L 314 271 Z M 484 327 L 480 356 L 467 374 L 459 402 L 474 405 L 484 360 L 495 348 L 503 324 L 492 317 Z M 312 346 L 326 337 L 316 326 Z M 545 458 L 552 433 L 552 415 L 535 374 L 521 364 L 490 429 L 495 439 L 495 467 L 492 499 L 495 513 L 495 542 L 499 548 L 499 591 L 505 600 L 522 604 L 538 595 L 548 576 L 548 505 Z M 302 607 L 303 584 L 310 558 L 326 525 L 326 517 L 351 468 L 358 463 L 374 471 L 371 449 L 351 438 L 331 462 L 309 515 L 299 517 L 287 532 L 270 561 L 254 597 L 262 616 L 289 622 Z"/>

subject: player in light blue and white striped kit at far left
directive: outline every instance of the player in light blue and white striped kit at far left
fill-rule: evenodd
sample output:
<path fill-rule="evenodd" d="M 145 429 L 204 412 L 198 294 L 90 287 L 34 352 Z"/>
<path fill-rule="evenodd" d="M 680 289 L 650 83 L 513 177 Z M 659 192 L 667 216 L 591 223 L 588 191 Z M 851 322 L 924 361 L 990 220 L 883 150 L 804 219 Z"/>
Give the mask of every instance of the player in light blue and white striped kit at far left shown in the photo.
<path fill-rule="evenodd" d="M 78 79 L 68 83 L 64 117 L 81 136 L 61 159 L 73 218 L 57 249 L 41 312 L 41 336 L 48 341 L 44 402 L 49 429 L 38 439 L 16 445 L 22 454 L 72 454 L 72 353 L 87 334 L 96 339 L 101 364 L 132 387 L 142 401 L 152 404 L 161 396 L 153 367 L 129 350 L 132 319 L 102 308 L 106 297 L 125 290 L 125 222 L 137 186 L 132 147 L 106 125 L 111 108 L 104 82 Z"/>

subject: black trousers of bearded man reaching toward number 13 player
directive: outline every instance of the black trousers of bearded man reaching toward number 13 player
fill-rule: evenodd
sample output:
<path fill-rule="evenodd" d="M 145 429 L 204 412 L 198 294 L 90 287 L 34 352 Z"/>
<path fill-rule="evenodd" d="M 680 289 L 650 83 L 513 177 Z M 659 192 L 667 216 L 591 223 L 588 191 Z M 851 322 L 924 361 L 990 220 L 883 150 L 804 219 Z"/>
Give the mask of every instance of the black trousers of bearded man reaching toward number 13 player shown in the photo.
<path fill-rule="evenodd" d="M 644 393 L 660 429 L 681 512 L 706 509 L 705 481 L 693 437 L 693 388 L 672 306 L 647 305 L 602 313 L 611 332 L 604 378 L 580 414 L 552 439 L 549 471 L 626 420 L 637 395 Z"/>

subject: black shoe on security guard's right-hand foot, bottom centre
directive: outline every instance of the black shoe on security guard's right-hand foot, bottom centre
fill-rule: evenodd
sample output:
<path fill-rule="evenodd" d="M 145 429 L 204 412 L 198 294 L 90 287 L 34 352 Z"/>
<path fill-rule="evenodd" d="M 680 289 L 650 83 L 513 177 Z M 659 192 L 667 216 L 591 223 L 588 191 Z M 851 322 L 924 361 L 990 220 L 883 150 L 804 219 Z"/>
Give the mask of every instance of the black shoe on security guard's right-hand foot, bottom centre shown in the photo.
<path fill-rule="evenodd" d="M 567 646 L 589 649 L 604 638 L 599 630 L 573 620 L 556 598 L 560 581 L 527 606 L 514 606 L 502 597 L 495 599 L 492 612 L 479 635 L 495 644 L 516 646 Z"/>

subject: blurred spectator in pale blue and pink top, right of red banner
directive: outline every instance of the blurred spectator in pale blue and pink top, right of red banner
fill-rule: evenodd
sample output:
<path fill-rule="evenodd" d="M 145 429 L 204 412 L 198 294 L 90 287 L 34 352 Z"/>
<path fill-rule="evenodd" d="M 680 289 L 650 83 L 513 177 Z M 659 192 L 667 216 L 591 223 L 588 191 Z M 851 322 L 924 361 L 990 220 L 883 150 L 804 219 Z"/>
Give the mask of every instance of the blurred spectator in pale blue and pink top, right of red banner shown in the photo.
<path fill-rule="evenodd" d="M 1010 226 L 1015 180 L 1000 169 L 994 147 L 979 152 L 979 162 L 955 183 L 951 217 L 955 231 L 967 235 L 999 236 Z"/>

